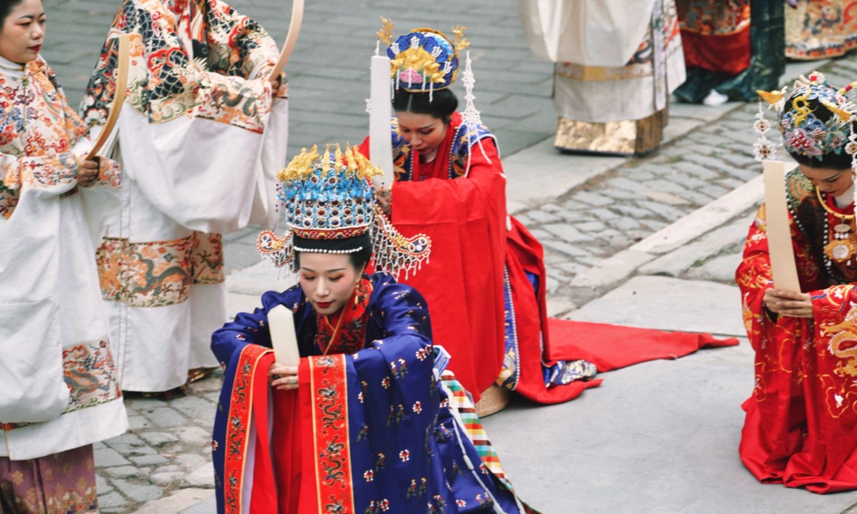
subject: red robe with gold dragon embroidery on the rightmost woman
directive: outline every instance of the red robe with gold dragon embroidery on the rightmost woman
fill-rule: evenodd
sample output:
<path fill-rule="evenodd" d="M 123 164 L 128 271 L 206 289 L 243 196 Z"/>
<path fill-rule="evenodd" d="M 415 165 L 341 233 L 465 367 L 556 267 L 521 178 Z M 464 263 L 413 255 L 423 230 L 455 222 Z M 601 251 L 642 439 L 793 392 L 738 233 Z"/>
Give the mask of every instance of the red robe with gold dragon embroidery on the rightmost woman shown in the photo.
<path fill-rule="evenodd" d="M 825 266 L 824 231 L 833 217 L 812 184 L 795 170 L 787 186 L 794 256 L 813 316 L 777 317 L 764 307 L 773 285 L 763 206 L 736 272 L 756 351 L 740 457 L 764 483 L 835 493 L 857 488 L 857 291 L 848 283 L 852 272 Z"/>

